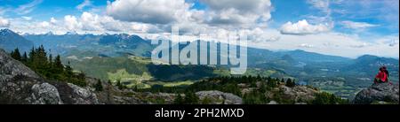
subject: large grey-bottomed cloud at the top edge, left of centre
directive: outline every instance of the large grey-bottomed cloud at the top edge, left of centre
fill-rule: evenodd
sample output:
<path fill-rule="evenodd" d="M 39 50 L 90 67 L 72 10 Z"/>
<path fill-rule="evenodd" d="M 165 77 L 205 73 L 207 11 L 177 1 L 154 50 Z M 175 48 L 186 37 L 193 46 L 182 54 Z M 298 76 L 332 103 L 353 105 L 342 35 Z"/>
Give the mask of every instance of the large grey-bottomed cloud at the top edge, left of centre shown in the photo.
<path fill-rule="evenodd" d="M 108 3 L 107 13 L 123 21 L 169 24 L 185 16 L 189 7 L 184 0 L 116 0 Z"/>

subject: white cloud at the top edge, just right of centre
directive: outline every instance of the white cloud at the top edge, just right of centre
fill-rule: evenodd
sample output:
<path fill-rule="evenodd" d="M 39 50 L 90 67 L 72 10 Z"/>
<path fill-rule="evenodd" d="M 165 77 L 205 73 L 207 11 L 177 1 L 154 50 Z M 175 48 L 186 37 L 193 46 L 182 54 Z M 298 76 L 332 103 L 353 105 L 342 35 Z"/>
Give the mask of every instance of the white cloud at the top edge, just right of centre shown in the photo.
<path fill-rule="evenodd" d="M 266 23 L 271 19 L 270 0 L 200 0 L 209 6 L 205 22 L 212 26 L 252 27 L 257 23 Z"/>

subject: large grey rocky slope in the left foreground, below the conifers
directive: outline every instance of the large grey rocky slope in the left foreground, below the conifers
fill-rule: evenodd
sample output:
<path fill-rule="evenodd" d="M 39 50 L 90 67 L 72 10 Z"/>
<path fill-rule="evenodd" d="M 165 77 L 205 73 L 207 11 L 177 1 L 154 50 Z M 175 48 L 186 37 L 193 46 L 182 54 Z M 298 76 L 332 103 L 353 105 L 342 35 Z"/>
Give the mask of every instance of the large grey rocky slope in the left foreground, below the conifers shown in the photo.
<path fill-rule="evenodd" d="M 0 103 L 93 104 L 99 103 L 89 89 L 63 81 L 44 80 L 0 50 Z"/>

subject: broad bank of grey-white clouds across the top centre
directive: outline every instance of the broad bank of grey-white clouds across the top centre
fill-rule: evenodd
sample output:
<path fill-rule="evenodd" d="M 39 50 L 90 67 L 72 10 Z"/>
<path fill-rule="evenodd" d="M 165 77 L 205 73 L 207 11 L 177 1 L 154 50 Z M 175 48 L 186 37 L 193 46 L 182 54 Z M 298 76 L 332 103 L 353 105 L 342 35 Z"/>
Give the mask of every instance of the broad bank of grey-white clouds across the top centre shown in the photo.
<path fill-rule="evenodd" d="M 165 32 L 179 26 L 182 33 L 206 33 L 211 29 L 242 29 L 267 26 L 271 19 L 269 0 L 200 0 L 205 10 L 190 9 L 185 0 L 116 0 L 108 2 L 107 14 L 113 19 L 152 24 Z"/>

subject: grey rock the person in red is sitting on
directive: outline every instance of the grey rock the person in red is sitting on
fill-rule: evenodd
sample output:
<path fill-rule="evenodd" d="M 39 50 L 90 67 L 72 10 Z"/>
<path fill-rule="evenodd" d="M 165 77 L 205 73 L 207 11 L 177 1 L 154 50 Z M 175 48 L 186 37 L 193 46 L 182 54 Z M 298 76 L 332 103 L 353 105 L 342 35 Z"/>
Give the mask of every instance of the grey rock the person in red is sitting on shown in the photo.
<path fill-rule="evenodd" d="M 399 103 L 398 84 L 379 83 L 373 84 L 358 92 L 353 100 L 356 104 Z"/>

